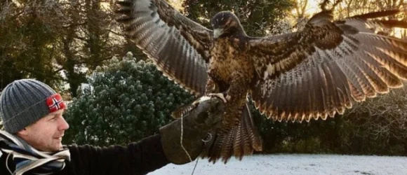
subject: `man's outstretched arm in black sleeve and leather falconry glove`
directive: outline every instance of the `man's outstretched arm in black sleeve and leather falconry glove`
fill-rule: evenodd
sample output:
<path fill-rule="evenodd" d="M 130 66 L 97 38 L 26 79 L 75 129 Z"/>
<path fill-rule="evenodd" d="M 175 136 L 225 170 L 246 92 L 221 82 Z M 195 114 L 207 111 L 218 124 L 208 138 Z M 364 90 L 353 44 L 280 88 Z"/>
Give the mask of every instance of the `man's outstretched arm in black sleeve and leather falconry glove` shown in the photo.
<path fill-rule="evenodd" d="M 201 98 L 181 119 L 161 127 L 160 134 L 128 146 L 69 146 L 69 167 L 76 174 L 147 174 L 168 163 L 185 164 L 191 160 L 180 145 L 181 124 L 183 146 L 192 160 L 201 153 L 206 134 L 218 127 L 224 111 L 220 99 Z M 72 172 L 73 173 L 73 172 Z"/>

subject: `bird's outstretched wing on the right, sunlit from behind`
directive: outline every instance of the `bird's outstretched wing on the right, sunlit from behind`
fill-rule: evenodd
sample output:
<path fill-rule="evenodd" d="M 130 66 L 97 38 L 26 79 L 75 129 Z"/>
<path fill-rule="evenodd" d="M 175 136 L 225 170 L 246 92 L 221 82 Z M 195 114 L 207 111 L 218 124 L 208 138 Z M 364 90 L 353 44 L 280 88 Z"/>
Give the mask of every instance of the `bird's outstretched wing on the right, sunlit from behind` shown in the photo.
<path fill-rule="evenodd" d="M 274 120 L 333 117 L 352 104 L 401 87 L 407 78 L 407 41 L 380 34 L 407 22 L 378 20 L 387 10 L 333 21 L 331 11 L 314 15 L 302 31 L 251 38 L 257 78 L 255 106 Z"/>

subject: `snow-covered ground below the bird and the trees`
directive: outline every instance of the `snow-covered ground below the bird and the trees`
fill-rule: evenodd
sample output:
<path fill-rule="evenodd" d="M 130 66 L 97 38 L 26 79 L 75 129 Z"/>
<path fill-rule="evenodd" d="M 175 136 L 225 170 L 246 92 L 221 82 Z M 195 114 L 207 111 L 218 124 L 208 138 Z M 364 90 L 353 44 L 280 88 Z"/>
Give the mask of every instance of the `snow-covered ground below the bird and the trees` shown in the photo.
<path fill-rule="evenodd" d="M 192 174 L 196 164 L 166 165 L 148 175 Z M 227 164 L 199 159 L 194 175 L 397 174 L 407 175 L 407 157 L 359 155 L 253 155 Z"/>

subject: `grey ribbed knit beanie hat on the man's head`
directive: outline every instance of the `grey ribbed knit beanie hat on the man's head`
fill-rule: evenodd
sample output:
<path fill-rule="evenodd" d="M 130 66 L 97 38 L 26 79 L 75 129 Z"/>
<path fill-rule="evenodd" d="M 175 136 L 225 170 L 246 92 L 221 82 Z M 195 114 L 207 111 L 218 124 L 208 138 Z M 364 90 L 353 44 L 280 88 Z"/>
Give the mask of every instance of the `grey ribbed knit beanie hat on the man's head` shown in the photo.
<path fill-rule="evenodd" d="M 51 87 L 34 79 L 15 80 L 0 94 L 0 116 L 7 132 L 14 134 L 48 115 Z"/>

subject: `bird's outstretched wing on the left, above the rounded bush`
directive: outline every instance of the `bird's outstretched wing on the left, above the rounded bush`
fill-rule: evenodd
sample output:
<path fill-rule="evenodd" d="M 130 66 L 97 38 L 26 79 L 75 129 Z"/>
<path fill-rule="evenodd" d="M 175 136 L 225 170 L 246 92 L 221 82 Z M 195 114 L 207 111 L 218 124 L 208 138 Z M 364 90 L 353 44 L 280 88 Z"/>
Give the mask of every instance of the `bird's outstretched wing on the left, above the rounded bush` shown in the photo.
<path fill-rule="evenodd" d="M 205 92 L 213 32 L 164 0 L 118 1 L 116 20 L 164 75 L 196 96 Z"/>

